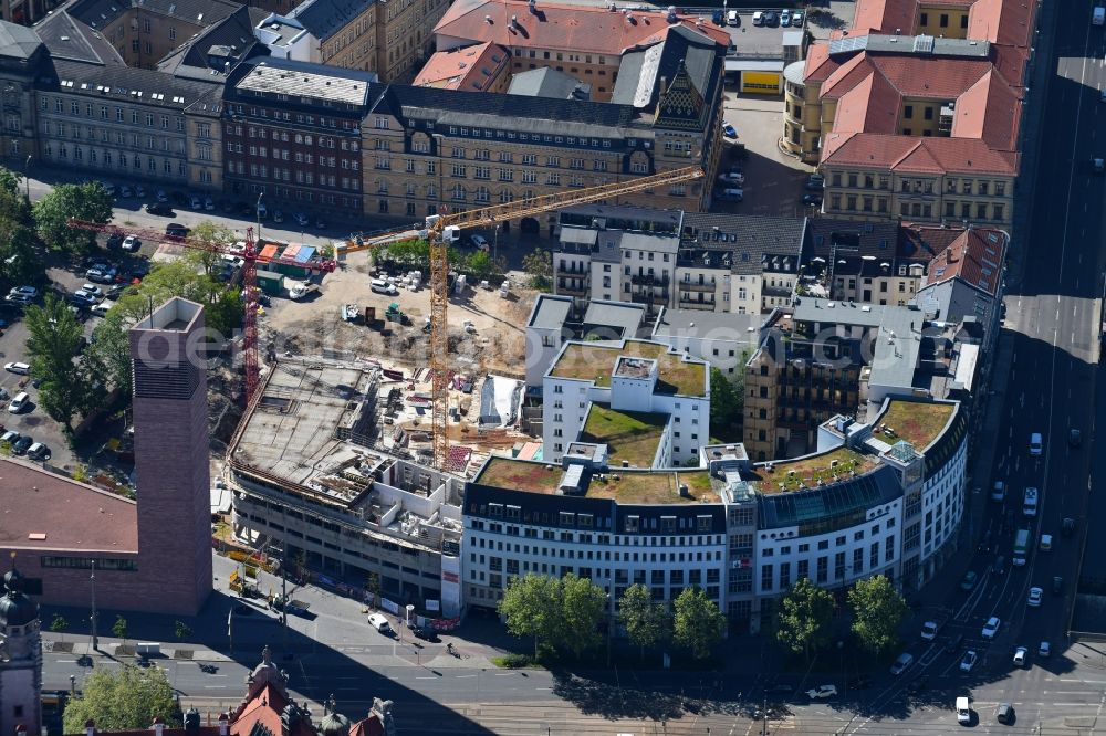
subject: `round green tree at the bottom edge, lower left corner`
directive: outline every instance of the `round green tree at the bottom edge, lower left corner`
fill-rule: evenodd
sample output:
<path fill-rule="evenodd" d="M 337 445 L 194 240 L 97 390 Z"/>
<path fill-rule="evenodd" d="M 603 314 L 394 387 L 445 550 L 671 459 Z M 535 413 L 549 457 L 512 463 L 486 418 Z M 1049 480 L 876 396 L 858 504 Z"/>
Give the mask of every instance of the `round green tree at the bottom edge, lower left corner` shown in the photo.
<path fill-rule="evenodd" d="M 161 667 L 96 667 L 85 677 L 81 694 L 65 704 L 66 734 L 84 733 L 90 718 L 105 732 L 144 730 L 160 717 L 169 726 L 176 721 L 177 702 Z"/>

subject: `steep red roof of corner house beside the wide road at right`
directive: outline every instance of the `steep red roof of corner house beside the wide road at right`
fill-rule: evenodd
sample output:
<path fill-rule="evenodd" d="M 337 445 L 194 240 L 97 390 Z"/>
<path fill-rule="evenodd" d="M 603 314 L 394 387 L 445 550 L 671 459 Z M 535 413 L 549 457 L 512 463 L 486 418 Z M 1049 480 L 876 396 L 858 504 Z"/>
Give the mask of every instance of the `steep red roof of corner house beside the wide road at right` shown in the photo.
<path fill-rule="evenodd" d="M 950 241 L 929 263 L 926 285 L 959 278 L 972 288 L 994 296 L 1002 280 L 1006 236 L 998 230 L 917 228 L 927 242 Z M 951 240 L 950 240 L 951 239 Z"/>

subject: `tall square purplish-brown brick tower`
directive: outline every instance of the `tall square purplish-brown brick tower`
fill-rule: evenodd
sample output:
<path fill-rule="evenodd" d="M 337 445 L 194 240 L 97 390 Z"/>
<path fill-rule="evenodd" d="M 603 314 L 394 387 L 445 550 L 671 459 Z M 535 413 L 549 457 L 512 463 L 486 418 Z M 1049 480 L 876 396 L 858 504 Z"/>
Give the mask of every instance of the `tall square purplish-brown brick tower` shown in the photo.
<path fill-rule="evenodd" d="M 211 479 L 204 307 L 174 297 L 131 328 L 138 575 L 158 600 L 195 614 L 211 592 Z"/>

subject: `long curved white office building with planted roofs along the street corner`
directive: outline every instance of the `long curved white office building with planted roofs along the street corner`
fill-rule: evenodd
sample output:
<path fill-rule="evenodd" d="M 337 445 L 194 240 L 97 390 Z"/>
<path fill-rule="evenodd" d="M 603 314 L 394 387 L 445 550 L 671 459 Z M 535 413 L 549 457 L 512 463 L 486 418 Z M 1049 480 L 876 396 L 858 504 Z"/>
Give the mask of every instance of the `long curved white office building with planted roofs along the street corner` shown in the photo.
<path fill-rule="evenodd" d="M 755 633 L 802 578 L 914 590 L 954 551 L 966 450 L 959 403 L 893 397 L 870 422 L 831 418 L 792 461 L 751 462 L 740 443 L 706 445 L 686 470 L 620 469 L 584 443 L 556 464 L 493 456 L 465 492 L 466 603 L 494 607 L 514 576 L 574 572 L 612 614 L 629 585 L 666 601 L 697 586 Z"/>

